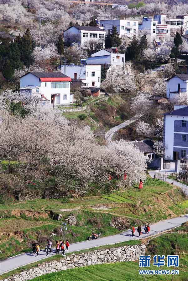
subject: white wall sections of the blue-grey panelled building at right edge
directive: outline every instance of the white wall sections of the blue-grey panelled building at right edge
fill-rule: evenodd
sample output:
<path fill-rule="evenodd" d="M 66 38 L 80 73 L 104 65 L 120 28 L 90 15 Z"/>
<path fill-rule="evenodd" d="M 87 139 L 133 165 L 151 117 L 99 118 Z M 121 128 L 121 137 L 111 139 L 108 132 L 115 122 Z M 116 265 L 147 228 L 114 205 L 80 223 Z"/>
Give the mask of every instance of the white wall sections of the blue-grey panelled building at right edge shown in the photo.
<path fill-rule="evenodd" d="M 183 108 L 185 107 L 183 106 L 175 106 L 174 110 L 179 109 L 179 108 Z M 165 157 L 170 156 L 170 159 L 173 160 L 174 159 L 174 151 L 181 151 L 181 149 L 186 149 L 188 150 L 187 146 L 180 146 L 180 145 L 174 145 L 174 136 L 175 134 L 188 134 L 186 132 L 181 132 L 181 131 L 174 131 L 175 128 L 175 121 L 187 121 L 188 123 L 188 116 L 176 116 L 176 115 L 165 115 L 165 122 L 164 122 L 164 131 L 165 131 Z M 187 157 L 187 156 L 186 156 Z M 181 158 L 181 157 L 179 157 Z M 175 160 L 175 159 L 174 159 Z"/>

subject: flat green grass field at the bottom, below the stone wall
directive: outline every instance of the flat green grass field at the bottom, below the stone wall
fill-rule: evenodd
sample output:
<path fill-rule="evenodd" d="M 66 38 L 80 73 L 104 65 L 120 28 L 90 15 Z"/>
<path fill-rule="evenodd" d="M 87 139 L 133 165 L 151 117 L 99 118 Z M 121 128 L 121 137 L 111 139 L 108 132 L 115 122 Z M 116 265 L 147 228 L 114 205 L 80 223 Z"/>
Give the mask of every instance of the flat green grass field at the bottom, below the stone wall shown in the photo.
<path fill-rule="evenodd" d="M 188 263 L 184 263 L 180 268 L 178 276 L 170 275 L 139 275 L 138 262 L 122 262 L 113 264 L 94 265 L 83 268 L 68 269 L 63 272 L 50 273 L 33 281 L 135 281 L 135 280 L 177 280 L 183 281 L 188 278 Z M 151 265 L 149 269 L 157 269 Z M 166 266 L 161 269 L 169 269 Z"/>

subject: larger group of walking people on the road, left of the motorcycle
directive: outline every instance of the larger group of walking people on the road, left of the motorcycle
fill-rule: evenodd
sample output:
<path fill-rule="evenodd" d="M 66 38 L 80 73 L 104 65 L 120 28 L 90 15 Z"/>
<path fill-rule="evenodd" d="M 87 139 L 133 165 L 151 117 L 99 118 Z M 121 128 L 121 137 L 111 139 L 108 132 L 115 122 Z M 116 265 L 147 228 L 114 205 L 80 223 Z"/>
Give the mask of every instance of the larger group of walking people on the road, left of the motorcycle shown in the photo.
<path fill-rule="evenodd" d="M 69 245 L 70 244 L 69 244 L 68 239 L 66 240 L 66 242 L 61 241 L 61 240 L 60 241 L 56 241 L 56 245 L 55 245 L 56 251 L 55 251 L 55 253 L 59 254 L 59 252 L 61 250 L 61 253 L 64 254 L 65 251 L 69 250 Z M 46 255 L 48 255 L 48 252 L 51 253 L 51 247 L 52 247 L 52 241 L 48 240 L 47 243 L 46 243 L 46 247 L 45 247 Z M 39 255 L 39 251 L 40 251 L 39 244 L 37 242 L 33 241 L 32 242 L 32 248 L 33 248 L 33 253 L 32 254 L 37 254 L 37 256 L 38 256 Z"/>

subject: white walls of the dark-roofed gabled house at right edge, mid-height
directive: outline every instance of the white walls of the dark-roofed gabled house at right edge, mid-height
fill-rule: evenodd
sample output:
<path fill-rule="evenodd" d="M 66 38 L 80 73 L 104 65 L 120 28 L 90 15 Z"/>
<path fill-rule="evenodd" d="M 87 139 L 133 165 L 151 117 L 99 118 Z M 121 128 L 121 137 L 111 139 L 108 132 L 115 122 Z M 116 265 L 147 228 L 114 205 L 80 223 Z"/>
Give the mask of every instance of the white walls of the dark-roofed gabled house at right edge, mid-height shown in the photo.
<path fill-rule="evenodd" d="M 188 80 L 182 80 L 176 75 L 166 80 L 166 97 L 170 99 L 188 98 L 187 83 Z"/>

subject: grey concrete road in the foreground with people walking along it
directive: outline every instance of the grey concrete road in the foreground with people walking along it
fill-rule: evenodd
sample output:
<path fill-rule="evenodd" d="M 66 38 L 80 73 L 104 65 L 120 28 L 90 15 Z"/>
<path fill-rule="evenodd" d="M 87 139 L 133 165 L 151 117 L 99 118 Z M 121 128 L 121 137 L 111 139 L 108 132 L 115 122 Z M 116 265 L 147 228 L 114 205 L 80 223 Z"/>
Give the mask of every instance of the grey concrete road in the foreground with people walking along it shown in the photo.
<path fill-rule="evenodd" d="M 148 237 L 151 235 L 156 235 L 165 230 L 169 230 L 169 229 L 178 227 L 181 225 L 181 223 L 185 223 L 187 221 L 188 221 L 188 214 L 177 217 L 177 218 L 166 219 L 164 221 L 154 223 L 154 224 L 150 225 L 149 235 L 142 234 L 140 238 L 138 237 L 138 233 L 136 231 L 135 231 L 136 236 L 134 236 L 132 238 L 131 230 L 127 230 L 127 231 L 124 231 L 124 232 L 116 234 L 116 235 L 102 237 L 98 240 L 74 243 L 74 244 L 70 245 L 69 253 L 80 251 L 83 249 L 92 248 L 92 247 L 102 246 L 102 245 L 115 244 L 115 243 L 124 242 L 124 241 L 128 241 L 128 240 L 145 238 L 145 237 Z M 142 230 L 144 230 L 144 227 L 142 227 Z M 52 252 L 49 253 L 48 257 L 50 257 L 52 255 L 55 255 L 55 249 L 52 249 Z M 24 266 L 26 264 L 36 262 L 43 258 L 46 258 L 46 253 L 44 250 L 41 250 L 39 252 L 38 256 L 36 256 L 35 254 L 33 255 L 32 253 L 24 253 L 24 254 L 14 256 L 12 258 L 8 258 L 8 259 L 0 262 L 0 274 L 6 273 L 6 272 L 13 270 L 15 268 L 18 268 L 20 266 Z"/>

